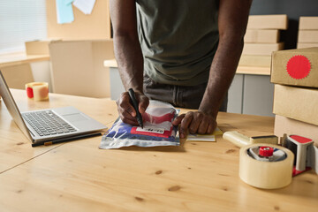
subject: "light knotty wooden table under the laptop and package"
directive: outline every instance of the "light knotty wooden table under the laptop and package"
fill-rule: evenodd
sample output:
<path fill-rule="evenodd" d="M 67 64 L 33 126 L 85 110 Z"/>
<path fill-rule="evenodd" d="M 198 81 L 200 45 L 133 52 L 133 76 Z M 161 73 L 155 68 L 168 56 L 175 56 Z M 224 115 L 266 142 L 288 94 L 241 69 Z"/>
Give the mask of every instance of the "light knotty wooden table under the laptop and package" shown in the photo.
<path fill-rule="evenodd" d="M 73 105 L 105 125 L 116 103 L 70 95 L 49 102 L 12 90 L 21 110 Z M 186 110 L 182 110 L 185 112 Z M 273 133 L 272 117 L 220 113 L 223 132 Z M 239 148 L 183 142 L 170 148 L 99 149 L 101 137 L 31 148 L 0 103 L 0 211 L 317 211 L 318 178 L 308 171 L 283 189 L 239 179 Z M 184 141 L 184 140 L 183 140 Z"/>

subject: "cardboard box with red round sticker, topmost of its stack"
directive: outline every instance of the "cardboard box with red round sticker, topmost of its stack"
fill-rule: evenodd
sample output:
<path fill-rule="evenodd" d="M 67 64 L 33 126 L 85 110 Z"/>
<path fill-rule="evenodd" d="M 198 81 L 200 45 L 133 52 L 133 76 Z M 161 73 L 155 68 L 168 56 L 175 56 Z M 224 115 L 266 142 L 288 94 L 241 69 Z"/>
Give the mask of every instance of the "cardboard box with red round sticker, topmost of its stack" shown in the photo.
<path fill-rule="evenodd" d="M 318 48 L 273 52 L 270 81 L 283 85 L 318 87 Z"/>

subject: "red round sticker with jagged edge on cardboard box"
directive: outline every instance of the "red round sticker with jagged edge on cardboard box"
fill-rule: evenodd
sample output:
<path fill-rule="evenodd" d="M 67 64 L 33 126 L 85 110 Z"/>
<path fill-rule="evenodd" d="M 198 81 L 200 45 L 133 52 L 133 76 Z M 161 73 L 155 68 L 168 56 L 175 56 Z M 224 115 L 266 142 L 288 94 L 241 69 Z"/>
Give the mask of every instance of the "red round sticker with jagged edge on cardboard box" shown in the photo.
<path fill-rule="evenodd" d="M 287 72 L 293 79 L 306 78 L 310 72 L 310 62 L 305 56 L 294 56 L 287 62 Z"/>

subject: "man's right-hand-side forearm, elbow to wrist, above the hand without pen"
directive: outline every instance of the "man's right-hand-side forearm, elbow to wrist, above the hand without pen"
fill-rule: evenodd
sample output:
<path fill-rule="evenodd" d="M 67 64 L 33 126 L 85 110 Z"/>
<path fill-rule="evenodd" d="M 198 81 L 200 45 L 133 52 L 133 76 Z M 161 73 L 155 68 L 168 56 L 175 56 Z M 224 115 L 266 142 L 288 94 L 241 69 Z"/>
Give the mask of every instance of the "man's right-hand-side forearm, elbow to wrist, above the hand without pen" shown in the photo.
<path fill-rule="evenodd" d="M 223 42 L 219 43 L 199 110 L 216 117 L 223 97 L 231 86 L 243 45 L 243 39 L 231 36 L 223 38 Z"/>

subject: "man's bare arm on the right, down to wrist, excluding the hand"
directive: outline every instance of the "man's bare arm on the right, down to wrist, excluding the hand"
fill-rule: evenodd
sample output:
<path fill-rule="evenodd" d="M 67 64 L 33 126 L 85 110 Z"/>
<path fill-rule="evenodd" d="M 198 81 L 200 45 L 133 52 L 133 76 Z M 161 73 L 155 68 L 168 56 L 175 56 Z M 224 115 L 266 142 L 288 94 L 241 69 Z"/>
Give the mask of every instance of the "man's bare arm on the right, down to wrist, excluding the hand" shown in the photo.
<path fill-rule="evenodd" d="M 239 64 L 251 3 L 252 0 L 220 0 L 219 44 L 199 108 L 199 111 L 212 117 L 217 116 Z"/>

